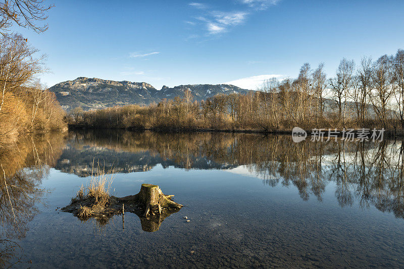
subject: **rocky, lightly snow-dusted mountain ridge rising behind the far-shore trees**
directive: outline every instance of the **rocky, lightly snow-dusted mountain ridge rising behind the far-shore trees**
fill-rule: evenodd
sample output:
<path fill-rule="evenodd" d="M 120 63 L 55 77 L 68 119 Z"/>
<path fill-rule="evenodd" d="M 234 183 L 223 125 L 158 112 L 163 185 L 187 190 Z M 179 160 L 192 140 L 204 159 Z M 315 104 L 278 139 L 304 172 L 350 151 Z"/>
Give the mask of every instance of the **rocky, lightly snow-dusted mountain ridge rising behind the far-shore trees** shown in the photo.
<path fill-rule="evenodd" d="M 77 106 L 84 110 L 122 106 L 129 104 L 148 105 L 163 98 L 182 97 L 184 90 L 192 92 L 194 100 L 201 101 L 216 94 L 247 93 L 248 90 L 227 84 L 180 85 L 174 88 L 163 86 L 157 90 L 145 82 L 111 81 L 79 77 L 58 83 L 51 88 L 62 107 L 69 111 Z"/>

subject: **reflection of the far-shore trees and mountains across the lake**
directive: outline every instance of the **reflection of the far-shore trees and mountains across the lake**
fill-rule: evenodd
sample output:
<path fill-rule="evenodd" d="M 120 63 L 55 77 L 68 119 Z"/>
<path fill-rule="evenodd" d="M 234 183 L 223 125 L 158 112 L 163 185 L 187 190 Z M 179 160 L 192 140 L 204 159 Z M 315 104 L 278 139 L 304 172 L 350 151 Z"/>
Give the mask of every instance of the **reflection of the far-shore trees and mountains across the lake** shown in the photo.
<path fill-rule="evenodd" d="M 56 169 L 87 176 L 95 159 L 121 173 L 164 168 L 232 169 L 242 166 L 270 186 L 295 186 L 303 200 L 319 201 L 335 182 L 341 207 L 357 198 L 403 218 L 401 141 L 330 140 L 293 143 L 289 136 L 230 133 L 71 132 Z"/>

